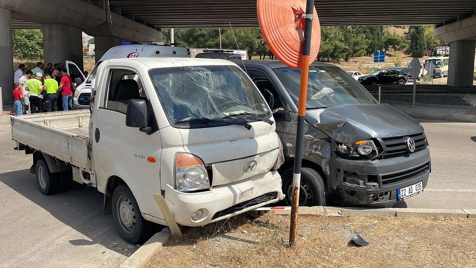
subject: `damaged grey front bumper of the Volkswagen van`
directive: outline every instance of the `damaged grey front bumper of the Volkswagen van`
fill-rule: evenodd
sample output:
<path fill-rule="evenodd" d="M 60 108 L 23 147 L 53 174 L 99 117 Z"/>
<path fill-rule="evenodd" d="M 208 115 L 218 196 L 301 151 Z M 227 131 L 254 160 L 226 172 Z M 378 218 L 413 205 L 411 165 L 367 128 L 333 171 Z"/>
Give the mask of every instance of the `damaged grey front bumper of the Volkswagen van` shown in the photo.
<path fill-rule="evenodd" d="M 329 190 L 334 202 L 346 206 L 391 207 L 398 200 L 398 189 L 428 182 L 431 172 L 428 148 L 377 161 L 354 161 L 331 157 Z"/>

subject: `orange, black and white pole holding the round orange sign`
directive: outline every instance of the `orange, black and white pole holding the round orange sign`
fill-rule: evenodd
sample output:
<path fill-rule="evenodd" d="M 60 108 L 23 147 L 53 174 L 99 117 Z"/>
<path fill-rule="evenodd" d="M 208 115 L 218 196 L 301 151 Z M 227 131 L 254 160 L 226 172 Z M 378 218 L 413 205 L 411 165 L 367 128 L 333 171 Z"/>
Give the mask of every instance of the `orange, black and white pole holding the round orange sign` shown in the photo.
<path fill-rule="evenodd" d="M 309 55 L 311 50 L 312 16 L 314 0 L 307 0 L 304 20 L 304 40 L 302 42 L 301 81 L 299 85 L 299 105 L 297 108 L 296 152 L 294 159 L 293 191 L 291 200 L 291 223 L 289 224 L 289 246 L 294 246 L 297 232 L 297 210 L 299 206 L 299 185 L 301 184 L 302 144 L 306 115 L 307 78 L 309 76 Z"/>

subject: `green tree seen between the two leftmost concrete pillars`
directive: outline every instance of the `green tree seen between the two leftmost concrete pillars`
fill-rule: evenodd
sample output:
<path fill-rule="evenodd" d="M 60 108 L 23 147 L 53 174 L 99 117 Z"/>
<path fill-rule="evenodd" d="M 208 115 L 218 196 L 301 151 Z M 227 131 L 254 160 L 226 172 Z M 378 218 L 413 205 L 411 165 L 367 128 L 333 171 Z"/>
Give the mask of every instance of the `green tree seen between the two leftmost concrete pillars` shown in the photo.
<path fill-rule="evenodd" d="M 43 60 L 43 33 L 41 30 L 13 30 L 13 51 L 20 60 Z"/>

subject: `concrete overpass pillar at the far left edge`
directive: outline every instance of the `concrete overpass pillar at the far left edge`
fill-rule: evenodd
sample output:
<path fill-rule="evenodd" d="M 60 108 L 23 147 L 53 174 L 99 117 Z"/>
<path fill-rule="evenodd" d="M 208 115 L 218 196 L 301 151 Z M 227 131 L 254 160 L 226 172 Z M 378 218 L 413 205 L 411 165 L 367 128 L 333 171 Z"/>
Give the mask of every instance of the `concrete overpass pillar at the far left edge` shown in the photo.
<path fill-rule="evenodd" d="M 13 40 L 11 36 L 11 10 L 0 8 L 0 87 L 2 103 L 13 105 Z M 18 66 L 17 66 L 18 67 Z"/>

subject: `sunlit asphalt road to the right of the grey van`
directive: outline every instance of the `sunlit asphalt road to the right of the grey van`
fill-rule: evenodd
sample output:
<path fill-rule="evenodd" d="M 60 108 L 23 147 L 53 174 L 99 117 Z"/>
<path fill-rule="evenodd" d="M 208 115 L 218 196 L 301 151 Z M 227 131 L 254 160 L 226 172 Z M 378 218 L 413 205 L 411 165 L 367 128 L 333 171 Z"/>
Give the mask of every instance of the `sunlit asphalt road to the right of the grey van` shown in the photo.
<path fill-rule="evenodd" d="M 409 208 L 476 209 L 476 124 L 418 120 L 430 144 L 432 173 Z"/>

